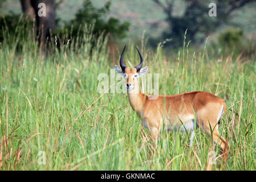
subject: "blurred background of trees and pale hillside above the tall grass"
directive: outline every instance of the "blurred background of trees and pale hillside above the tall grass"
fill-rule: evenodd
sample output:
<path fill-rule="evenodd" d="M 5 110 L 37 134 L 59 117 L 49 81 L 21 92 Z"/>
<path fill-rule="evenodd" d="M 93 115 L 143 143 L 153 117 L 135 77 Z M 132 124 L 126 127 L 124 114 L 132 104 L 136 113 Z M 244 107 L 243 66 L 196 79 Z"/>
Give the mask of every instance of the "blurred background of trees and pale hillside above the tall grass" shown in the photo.
<path fill-rule="evenodd" d="M 47 5 L 46 18 L 36 17 L 40 2 Z M 212 2 L 217 7 L 215 17 L 208 14 Z M 53 38 L 55 44 L 57 35 L 58 44 L 60 40 L 64 44 L 68 40 L 74 42 L 75 37 L 84 33 L 82 27 L 93 24 L 93 34 L 108 37 L 109 52 L 114 56 L 119 46 L 131 42 L 138 45 L 142 39 L 148 48 L 156 48 L 160 43 L 167 53 L 176 51 L 184 46 L 187 30 L 186 40 L 191 40 L 192 49 L 204 47 L 209 36 L 208 45 L 219 55 L 233 51 L 250 57 L 254 54 L 256 35 L 255 7 L 254 0 L 0 0 L 0 28 L 7 27 L 11 34 L 20 16 L 28 16 L 26 20 L 34 22 L 35 36 L 40 36 L 44 52 L 47 39 Z"/>

